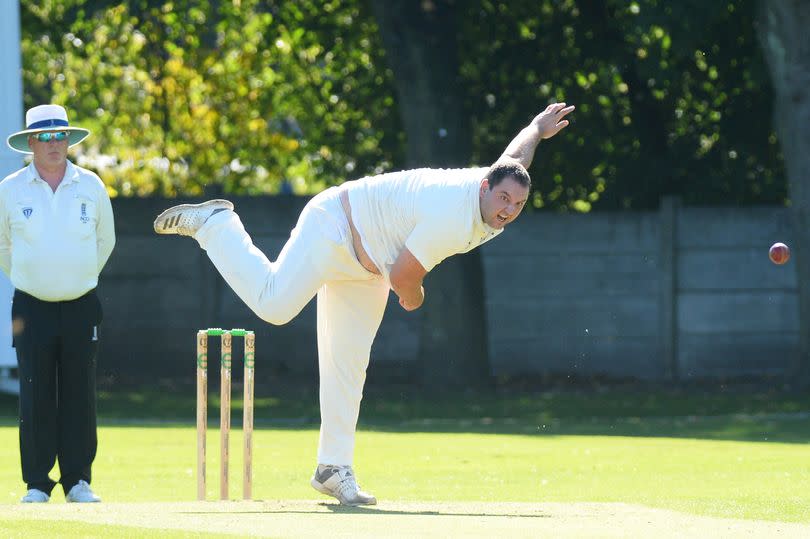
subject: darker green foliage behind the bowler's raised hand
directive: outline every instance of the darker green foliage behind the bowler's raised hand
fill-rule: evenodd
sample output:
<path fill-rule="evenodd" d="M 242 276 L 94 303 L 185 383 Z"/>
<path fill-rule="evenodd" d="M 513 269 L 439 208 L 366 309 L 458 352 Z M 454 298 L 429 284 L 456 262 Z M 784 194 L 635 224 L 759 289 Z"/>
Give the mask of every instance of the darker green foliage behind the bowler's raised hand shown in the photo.
<path fill-rule="evenodd" d="M 541 145 L 535 205 L 780 203 L 772 91 L 746 1 L 484 1 L 460 33 L 480 158 L 548 101 L 577 105 Z"/>

